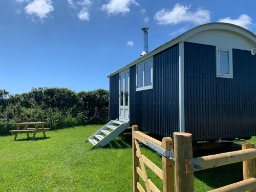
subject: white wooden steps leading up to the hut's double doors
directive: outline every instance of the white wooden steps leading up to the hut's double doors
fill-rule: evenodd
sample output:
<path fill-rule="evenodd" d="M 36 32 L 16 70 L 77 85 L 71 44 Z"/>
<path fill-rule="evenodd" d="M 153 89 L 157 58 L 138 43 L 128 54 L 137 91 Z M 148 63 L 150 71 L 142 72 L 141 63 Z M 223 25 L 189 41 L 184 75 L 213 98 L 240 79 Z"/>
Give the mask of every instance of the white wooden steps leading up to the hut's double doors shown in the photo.
<path fill-rule="evenodd" d="M 87 140 L 92 143 L 94 147 L 103 147 L 121 134 L 128 126 L 129 123 L 111 120 Z"/>

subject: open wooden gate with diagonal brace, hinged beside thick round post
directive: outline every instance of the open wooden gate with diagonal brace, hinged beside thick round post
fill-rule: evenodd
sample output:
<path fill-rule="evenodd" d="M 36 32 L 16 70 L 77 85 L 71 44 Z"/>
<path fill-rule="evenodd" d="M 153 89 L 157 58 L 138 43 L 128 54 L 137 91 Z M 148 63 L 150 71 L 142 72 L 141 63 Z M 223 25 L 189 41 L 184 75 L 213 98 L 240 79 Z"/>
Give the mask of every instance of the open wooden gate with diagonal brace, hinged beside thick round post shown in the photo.
<path fill-rule="evenodd" d="M 139 141 L 145 145 L 152 143 L 153 146 L 162 148 L 165 151 L 173 150 L 173 140 L 164 137 L 162 142 L 138 131 L 138 126 L 133 125 L 133 191 L 144 192 L 144 188 L 139 183 L 139 177 L 144 181 L 147 192 L 159 192 L 156 185 L 147 177 L 145 165 L 150 168 L 162 181 L 163 191 L 174 191 L 174 162 L 168 157 L 162 156 L 162 169 L 155 165 L 151 160 L 141 154 Z M 140 164 L 140 167 L 139 167 Z"/>

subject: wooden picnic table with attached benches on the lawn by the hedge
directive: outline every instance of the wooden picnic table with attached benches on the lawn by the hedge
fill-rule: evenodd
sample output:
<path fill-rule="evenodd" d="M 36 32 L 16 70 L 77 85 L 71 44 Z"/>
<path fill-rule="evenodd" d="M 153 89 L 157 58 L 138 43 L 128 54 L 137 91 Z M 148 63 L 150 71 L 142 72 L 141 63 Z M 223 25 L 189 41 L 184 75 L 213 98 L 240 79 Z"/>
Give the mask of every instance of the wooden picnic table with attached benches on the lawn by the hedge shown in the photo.
<path fill-rule="evenodd" d="M 29 133 L 33 133 L 33 140 L 35 139 L 36 133 L 42 132 L 44 137 L 46 138 L 46 131 L 50 130 L 49 128 L 45 128 L 45 122 L 23 122 L 23 123 L 15 123 L 17 126 L 17 130 L 11 130 L 10 132 L 14 135 L 14 141 L 17 139 L 18 133 L 26 133 L 29 139 Z M 29 128 L 29 125 L 33 125 L 33 128 Z M 23 126 L 21 130 L 20 127 Z M 40 126 L 40 128 L 39 128 Z"/>

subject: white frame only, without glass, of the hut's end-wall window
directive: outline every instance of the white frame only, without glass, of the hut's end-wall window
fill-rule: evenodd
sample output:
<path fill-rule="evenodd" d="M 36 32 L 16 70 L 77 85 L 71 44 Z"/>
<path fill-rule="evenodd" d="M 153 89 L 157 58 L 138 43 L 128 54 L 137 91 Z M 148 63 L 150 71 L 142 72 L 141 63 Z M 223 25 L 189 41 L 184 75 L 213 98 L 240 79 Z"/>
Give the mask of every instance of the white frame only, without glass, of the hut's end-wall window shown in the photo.
<path fill-rule="evenodd" d="M 220 73 L 220 51 L 227 51 L 229 56 L 229 74 Z M 224 47 L 216 47 L 216 74 L 217 77 L 233 78 L 233 59 L 232 49 Z"/>

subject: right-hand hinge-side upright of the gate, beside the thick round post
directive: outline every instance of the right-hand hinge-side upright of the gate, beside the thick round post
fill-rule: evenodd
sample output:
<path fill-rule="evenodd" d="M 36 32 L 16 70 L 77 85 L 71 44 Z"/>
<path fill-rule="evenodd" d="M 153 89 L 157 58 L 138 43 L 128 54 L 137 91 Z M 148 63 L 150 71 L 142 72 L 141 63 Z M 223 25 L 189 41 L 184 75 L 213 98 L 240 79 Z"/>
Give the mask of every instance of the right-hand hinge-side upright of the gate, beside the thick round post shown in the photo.
<path fill-rule="evenodd" d="M 162 148 L 166 151 L 173 150 L 173 139 L 164 137 L 162 139 Z M 163 192 L 174 191 L 174 162 L 169 157 L 162 156 L 163 169 Z"/>

